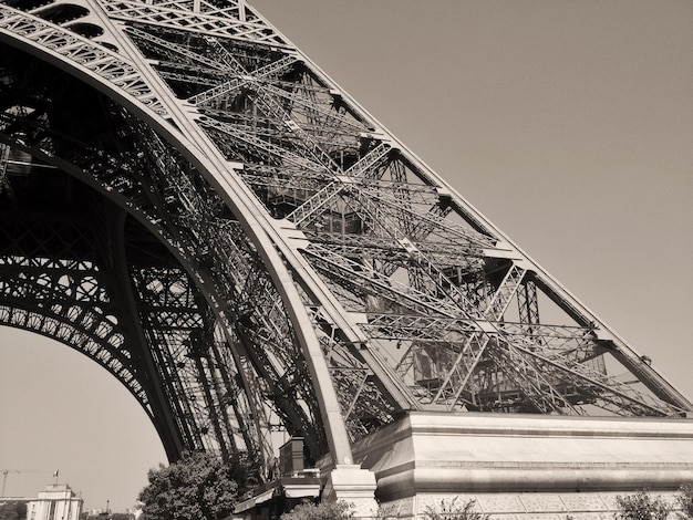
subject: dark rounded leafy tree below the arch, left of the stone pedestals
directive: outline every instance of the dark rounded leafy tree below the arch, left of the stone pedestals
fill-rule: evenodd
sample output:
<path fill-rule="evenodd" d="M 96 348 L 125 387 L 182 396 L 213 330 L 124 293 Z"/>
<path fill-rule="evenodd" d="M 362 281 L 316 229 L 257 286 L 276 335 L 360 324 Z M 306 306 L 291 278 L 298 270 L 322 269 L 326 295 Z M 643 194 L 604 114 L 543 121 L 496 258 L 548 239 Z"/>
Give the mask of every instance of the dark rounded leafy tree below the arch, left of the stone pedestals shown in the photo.
<path fill-rule="evenodd" d="M 231 514 L 252 483 L 244 458 L 230 462 L 201 451 L 186 451 L 169 466 L 147 474 L 139 492 L 144 520 L 220 520 Z"/>

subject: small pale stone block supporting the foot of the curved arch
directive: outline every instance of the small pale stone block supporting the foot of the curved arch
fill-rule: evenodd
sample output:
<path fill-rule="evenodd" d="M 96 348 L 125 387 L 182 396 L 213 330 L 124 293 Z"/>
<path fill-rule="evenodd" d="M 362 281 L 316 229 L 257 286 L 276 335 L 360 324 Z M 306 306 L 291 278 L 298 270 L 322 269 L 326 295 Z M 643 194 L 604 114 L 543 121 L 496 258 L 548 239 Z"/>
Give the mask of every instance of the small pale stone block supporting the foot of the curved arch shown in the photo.
<path fill-rule="evenodd" d="M 343 500 L 352 506 L 355 517 L 373 517 L 377 511 L 375 474 L 358 465 L 337 465 L 324 485 L 322 500 Z"/>

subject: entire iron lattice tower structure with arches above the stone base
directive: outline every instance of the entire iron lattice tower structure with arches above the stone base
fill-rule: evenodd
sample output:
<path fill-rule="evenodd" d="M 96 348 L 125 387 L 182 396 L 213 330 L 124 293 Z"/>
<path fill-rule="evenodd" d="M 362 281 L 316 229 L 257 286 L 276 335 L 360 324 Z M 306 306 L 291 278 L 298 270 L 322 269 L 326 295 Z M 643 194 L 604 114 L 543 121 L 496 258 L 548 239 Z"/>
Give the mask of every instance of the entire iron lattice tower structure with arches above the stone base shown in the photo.
<path fill-rule="evenodd" d="M 242 0 L 4 0 L 0 41 L 0 323 L 103 365 L 172 459 L 693 409 Z"/>

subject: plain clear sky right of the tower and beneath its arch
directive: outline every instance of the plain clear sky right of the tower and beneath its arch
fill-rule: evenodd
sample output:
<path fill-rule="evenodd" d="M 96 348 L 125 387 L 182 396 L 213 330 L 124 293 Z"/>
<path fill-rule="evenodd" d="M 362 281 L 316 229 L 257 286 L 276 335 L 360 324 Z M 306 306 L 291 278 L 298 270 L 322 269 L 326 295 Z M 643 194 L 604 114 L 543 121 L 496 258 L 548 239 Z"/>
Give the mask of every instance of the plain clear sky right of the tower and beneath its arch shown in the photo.
<path fill-rule="evenodd" d="M 693 398 L 693 2 L 251 3 Z M 8 496 L 60 469 L 122 511 L 165 460 L 105 371 L 2 327 L 0 416 Z"/>

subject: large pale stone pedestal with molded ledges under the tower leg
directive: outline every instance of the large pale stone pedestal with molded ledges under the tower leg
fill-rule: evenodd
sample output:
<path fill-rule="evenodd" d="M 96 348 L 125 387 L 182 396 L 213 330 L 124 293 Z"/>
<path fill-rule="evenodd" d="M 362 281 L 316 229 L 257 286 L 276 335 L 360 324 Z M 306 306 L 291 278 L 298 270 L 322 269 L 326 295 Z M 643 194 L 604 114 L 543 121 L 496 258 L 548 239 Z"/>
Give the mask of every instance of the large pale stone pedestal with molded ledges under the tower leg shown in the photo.
<path fill-rule="evenodd" d="M 492 520 L 611 519 L 693 483 L 693 420 L 413 412 L 353 447 L 387 514 L 474 499 Z"/>

